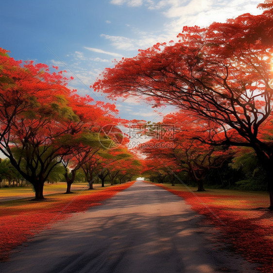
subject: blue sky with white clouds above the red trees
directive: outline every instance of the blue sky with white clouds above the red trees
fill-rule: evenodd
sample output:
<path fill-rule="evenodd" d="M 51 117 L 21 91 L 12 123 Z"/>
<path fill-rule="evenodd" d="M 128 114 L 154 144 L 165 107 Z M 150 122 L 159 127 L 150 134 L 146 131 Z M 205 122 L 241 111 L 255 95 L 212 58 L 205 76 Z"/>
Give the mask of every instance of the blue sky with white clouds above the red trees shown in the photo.
<path fill-rule="evenodd" d="M 0 47 L 10 56 L 68 70 L 72 88 L 88 87 L 113 60 L 175 40 L 184 25 L 206 26 L 243 13 L 261 0 L 0 0 Z M 73 75 L 74 74 L 74 75 Z M 76 75 L 76 76 L 75 76 Z M 120 117 L 159 121 L 145 102 L 119 100 Z M 173 109 L 161 108 L 163 114 Z"/>

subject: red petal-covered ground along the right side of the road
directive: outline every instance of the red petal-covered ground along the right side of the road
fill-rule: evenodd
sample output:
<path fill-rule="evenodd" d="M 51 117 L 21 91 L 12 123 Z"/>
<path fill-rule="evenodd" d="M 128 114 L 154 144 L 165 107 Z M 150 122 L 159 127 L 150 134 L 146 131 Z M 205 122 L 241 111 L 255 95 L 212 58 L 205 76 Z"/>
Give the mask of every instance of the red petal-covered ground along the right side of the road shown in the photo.
<path fill-rule="evenodd" d="M 253 192 L 230 191 L 221 195 L 218 190 L 201 193 L 186 187 L 157 186 L 184 198 L 193 210 L 205 215 L 237 252 L 261 264 L 258 270 L 273 272 L 273 212 L 264 208 L 268 206 L 269 196 L 265 199 L 264 194 Z"/>

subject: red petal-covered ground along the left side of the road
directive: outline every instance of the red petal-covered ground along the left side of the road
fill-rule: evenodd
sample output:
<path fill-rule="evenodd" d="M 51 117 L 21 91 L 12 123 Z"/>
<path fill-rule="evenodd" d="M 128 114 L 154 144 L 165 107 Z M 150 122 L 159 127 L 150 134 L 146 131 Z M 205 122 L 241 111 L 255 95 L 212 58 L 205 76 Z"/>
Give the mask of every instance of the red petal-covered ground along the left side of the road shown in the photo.
<path fill-rule="evenodd" d="M 133 184 L 134 181 L 73 195 L 54 194 L 40 202 L 23 199 L 0 203 L 0 261 L 6 260 L 13 248 L 52 223 L 68 218 L 73 212 L 101 205 L 102 201 Z"/>

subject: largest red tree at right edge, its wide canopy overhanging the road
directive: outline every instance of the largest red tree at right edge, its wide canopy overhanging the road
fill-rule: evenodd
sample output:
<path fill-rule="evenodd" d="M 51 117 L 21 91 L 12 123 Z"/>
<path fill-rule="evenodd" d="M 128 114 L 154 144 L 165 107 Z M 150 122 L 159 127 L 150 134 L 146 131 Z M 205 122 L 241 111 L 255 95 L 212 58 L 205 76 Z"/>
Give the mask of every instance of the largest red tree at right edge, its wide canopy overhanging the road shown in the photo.
<path fill-rule="evenodd" d="M 154 105 L 170 103 L 217 123 L 224 137 L 200 140 L 252 147 L 267 174 L 273 209 L 273 145 L 262 137 L 272 118 L 272 0 L 262 7 L 261 15 L 184 27 L 177 43 L 157 43 L 122 59 L 93 87 L 112 97 L 145 95 Z"/>

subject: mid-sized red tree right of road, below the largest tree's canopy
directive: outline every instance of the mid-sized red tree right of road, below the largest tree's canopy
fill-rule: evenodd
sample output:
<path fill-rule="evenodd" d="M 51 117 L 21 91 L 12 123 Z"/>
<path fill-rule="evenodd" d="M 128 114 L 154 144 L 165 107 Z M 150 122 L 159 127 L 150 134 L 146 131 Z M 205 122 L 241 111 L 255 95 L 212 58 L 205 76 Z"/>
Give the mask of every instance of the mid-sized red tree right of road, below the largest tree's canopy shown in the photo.
<path fill-rule="evenodd" d="M 161 132 L 153 133 L 160 137 L 142 144 L 141 151 L 150 159 L 161 158 L 161 165 L 168 167 L 172 181 L 175 173 L 185 171 L 197 183 L 198 191 L 203 191 L 207 172 L 222 167 L 233 155 L 227 149 L 223 150 L 198 140 L 200 135 L 208 139 L 211 136 L 212 132 L 207 129 L 211 126 L 207 125 L 205 120 L 190 116 L 187 111 L 169 114 L 164 117 L 160 126 L 154 126 L 161 129 Z M 167 134 L 164 128 L 170 127 L 173 132 Z"/>

